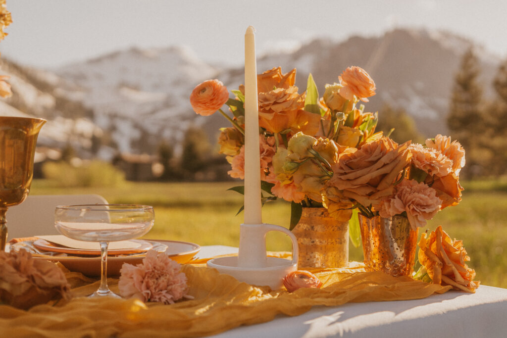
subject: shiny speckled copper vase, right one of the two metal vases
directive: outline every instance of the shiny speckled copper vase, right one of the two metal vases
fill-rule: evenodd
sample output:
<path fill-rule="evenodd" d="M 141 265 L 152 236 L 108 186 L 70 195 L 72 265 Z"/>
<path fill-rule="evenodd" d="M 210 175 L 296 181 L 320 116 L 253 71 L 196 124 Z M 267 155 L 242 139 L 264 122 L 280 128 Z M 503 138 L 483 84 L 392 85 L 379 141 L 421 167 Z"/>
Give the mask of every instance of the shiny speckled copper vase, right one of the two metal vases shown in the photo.
<path fill-rule="evenodd" d="M 368 218 L 359 213 L 363 253 L 367 271 L 382 271 L 391 276 L 411 276 L 417 246 L 417 230 L 407 217 Z"/>

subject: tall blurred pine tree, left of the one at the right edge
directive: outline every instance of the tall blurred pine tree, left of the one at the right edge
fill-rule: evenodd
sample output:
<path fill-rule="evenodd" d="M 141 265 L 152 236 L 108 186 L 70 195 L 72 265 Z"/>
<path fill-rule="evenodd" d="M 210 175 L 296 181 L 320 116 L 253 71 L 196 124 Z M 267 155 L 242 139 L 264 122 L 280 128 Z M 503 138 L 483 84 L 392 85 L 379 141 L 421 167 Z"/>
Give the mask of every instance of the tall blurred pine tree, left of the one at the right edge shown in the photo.
<path fill-rule="evenodd" d="M 482 88 L 478 83 L 479 60 L 472 48 L 461 59 L 459 71 L 454 78 L 447 127 L 453 139 L 458 139 L 466 151 L 465 173 L 477 172 L 485 166 L 481 152 L 485 121 L 481 110 Z"/>

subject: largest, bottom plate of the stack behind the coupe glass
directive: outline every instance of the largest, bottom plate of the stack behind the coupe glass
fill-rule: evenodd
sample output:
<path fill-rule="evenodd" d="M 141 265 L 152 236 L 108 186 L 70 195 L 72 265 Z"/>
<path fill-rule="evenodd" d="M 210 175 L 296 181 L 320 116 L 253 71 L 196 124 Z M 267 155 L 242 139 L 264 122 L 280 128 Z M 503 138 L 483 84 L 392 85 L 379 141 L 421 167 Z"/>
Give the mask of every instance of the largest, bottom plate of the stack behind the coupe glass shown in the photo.
<path fill-rule="evenodd" d="M 189 262 L 201 249 L 195 243 L 180 241 L 162 241 L 147 240 L 154 244 L 157 243 L 167 246 L 165 252 L 169 258 L 180 264 Z M 88 277 L 100 276 L 100 257 L 76 257 L 76 256 L 50 256 L 39 253 L 32 254 L 35 259 L 46 259 L 60 262 L 70 271 L 80 272 Z M 134 254 L 129 256 L 108 256 L 107 257 L 107 275 L 120 276 L 120 269 L 124 263 L 137 265 L 140 264 L 146 253 Z"/>

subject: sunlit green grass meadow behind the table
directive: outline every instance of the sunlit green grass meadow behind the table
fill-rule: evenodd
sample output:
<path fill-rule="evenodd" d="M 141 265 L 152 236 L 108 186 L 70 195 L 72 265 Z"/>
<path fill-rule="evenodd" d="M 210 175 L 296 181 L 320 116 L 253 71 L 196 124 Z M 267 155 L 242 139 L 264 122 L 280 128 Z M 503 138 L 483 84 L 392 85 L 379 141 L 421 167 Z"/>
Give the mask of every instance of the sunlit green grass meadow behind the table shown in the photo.
<path fill-rule="evenodd" d="M 121 187 L 68 189 L 35 180 L 30 194 L 99 194 L 110 203 L 153 205 L 155 226 L 146 238 L 237 246 L 243 215 L 236 213 L 243 199 L 242 195 L 227 191 L 234 185 L 234 182 L 127 182 Z M 472 259 L 469 266 L 476 270 L 477 280 L 507 288 L 507 252 L 504 253 L 507 251 L 507 182 L 474 181 L 463 185 L 463 201 L 439 212 L 419 233 L 442 224 L 451 237 L 463 240 Z M 269 203 L 263 207 L 263 221 L 288 227 L 289 213 L 288 203 Z M 270 233 L 267 247 L 290 250 L 291 244 L 285 235 Z M 350 259 L 362 260 L 362 249 L 350 247 Z"/>

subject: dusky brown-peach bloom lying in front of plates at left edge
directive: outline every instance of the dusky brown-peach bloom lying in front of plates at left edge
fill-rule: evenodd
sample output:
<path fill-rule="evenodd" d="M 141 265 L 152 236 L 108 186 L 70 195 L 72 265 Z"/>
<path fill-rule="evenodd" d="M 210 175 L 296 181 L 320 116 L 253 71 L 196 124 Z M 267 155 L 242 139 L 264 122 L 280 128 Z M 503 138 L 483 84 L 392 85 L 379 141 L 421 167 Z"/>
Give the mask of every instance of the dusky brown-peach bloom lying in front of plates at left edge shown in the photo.
<path fill-rule="evenodd" d="M 70 299 L 70 285 L 52 262 L 25 251 L 0 252 L 0 302 L 29 309 L 51 299 Z"/>

